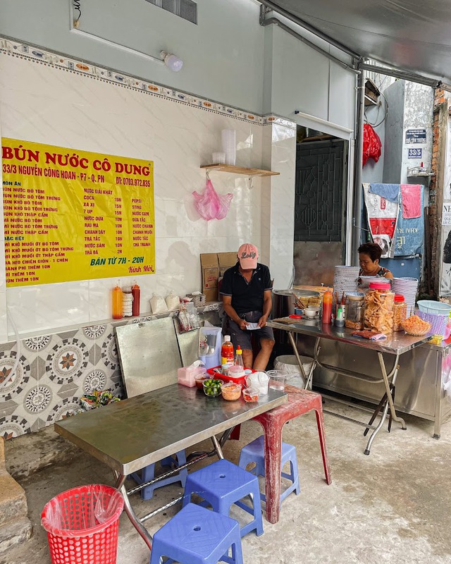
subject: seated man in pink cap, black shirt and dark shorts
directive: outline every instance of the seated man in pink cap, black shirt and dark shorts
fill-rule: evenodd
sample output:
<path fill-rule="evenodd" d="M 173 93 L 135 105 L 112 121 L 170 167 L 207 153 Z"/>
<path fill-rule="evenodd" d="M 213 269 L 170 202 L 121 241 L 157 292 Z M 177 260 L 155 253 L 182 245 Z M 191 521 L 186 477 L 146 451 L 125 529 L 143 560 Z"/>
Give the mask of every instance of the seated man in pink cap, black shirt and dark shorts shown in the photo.
<path fill-rule="evenodd" d="M 268 266 L 257 262 L 259 251 L 250 243 L 238 249 L 238 262 L 226 270 L 221 283 L 221 296 L 226 316 L 223 335 L 230 335 L 233 347 L 240 345 L 246 368 L 266 369 L 274 346 L 273 330 L 266 326 L 271 313 L 271 276 Z M 259 329 L 249 331 L 249 323 Z M 253 360 L 251 337 L 260 341 L 260 352 Z"/>

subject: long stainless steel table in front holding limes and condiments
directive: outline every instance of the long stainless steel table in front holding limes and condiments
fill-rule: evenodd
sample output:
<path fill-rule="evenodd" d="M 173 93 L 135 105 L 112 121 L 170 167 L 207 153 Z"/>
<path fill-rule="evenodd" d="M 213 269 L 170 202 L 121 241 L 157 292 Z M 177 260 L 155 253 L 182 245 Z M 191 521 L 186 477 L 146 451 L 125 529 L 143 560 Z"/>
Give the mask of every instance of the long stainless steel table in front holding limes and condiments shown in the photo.
<path fill-rule="evenodd" d="M 272 389 L 257 403 L 245 403 L 242 399 L 226 401 L 223 398 L 207 398 L 203 391 L 195 387 L 171 384 L 59 421 L 55 424 L 55 431 L 111 467 L 116 475 L 116 487 L 121 489 L 124 496 L 125 511 L 151 548 L 152 537 L 143 522 L 156 512 L 139 518 L 129 499 L 130 494 L 149 482 L 127 491 L 127 475 L 209 438 L 219 458 L 223 458 L 216 434 L 286 401 L 284 392 Z M 200 458 L 203 457 L 196 460 Z M 190 464 L 193 462 L 195 460 Z M 166 505 L 166 508 L 178 501 L 180 498 Z"/>

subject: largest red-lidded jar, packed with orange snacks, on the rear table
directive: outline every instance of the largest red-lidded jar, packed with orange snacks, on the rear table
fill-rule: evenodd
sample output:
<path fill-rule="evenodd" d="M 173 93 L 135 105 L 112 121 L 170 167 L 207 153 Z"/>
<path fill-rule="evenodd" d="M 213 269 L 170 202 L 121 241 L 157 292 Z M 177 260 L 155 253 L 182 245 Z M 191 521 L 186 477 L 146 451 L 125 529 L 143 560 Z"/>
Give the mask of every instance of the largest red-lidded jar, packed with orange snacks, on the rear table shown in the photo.
<path fill-rule="evenodd" d="M 377 333 L 393 331 L 395 293 L 390 282 L 371 282 L 364 298 L 364 327 Z"/>

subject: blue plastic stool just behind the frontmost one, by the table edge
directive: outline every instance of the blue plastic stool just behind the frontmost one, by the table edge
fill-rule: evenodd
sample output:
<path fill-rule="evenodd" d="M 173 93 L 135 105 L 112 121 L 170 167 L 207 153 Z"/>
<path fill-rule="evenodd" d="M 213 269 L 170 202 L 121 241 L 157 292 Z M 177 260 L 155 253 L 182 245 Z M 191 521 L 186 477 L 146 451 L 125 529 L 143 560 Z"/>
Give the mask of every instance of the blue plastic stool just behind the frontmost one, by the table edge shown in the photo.
<path fill-rule="evenodd" d="M 209 466 L 188 474 L 183 507 L 190 503 L 192 494 L 197 494 L 204 499 L 199 505 L 202 507 L 211 505 L 216 513 L 222 515 L 229 515 L 230 506 L 235 503 L 254 517 L 251 522 L 241 527 L 241 536 L 244 537 L 254 529 L 258 536 L 263 534 L 261 505 L 256 503 L 256 500 L 260 502 L 259 479 L 250 472 L 242 470 L 228 460 L 217 460 Z M 250 496 L 252 507 L 240 501 L 246 496 Z"/>

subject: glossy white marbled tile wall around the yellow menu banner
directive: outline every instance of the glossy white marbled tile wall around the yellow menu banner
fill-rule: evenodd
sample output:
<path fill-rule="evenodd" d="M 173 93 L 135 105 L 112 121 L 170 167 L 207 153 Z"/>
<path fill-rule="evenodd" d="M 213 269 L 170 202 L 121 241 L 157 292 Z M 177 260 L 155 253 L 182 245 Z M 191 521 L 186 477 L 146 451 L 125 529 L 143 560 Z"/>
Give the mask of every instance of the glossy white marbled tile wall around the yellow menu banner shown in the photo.
<path fill-rule="evenodd" d="M 154 161 L 156 274 L 121 280 L 125 285 L 136 278 L 140 284 L 142 313 L 149 311 L 154 292 L 201 289 L 200 253 L 234 251 L 246 241 L 260 248 L 261 262 L 275 271 L 276 286 L 288 284 L 295 130 L 262 127 L 8 56 L 0 57 L 0 120 L 3 137 Z M 221 150 L 223 128 L 237 131 L 238 165 L 271 166 L 281 174 L 255 178 L 249 187 L 245 177 L 212 171 L 216 191 L 232 193 L 233 200 L 226 219 L 207 222 L 195 211 L 192 192 L 204 190 L 199 166 Z M 6 297 L 20 333 L 45 332 L 109 319 L 115 284 L 116 278 L 102 278 L 6 293 L 0 285 L 0 302 Z M 8 331 L 11 335 L 11 324 Z M 5 341 L 1 333 L 0 340 Z"/>

